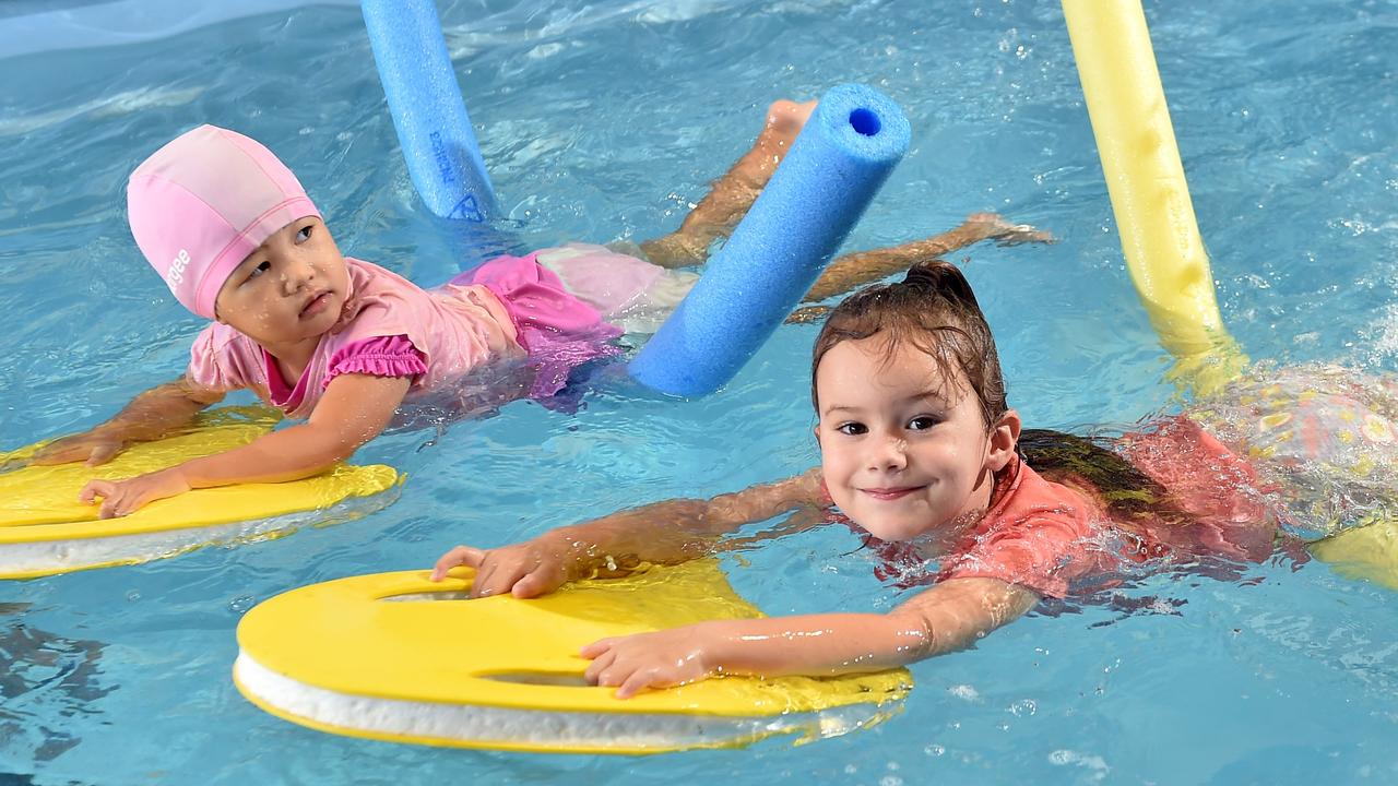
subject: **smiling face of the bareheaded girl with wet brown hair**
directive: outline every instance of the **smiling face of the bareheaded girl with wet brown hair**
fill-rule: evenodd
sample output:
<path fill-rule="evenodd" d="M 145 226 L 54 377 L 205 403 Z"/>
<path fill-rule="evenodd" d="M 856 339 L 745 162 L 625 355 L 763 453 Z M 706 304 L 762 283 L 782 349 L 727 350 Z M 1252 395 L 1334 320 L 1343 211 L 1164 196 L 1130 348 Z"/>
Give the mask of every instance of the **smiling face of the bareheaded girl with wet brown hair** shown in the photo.
<path fill-rule="evenodd" d="M 879 336 L 840 341 L 815 372 L 821 467 L 835 503 L 881 540 L 910 540 L 990 505 L 1019 439 L 1011 410 L 987 429 L 965 378 Z"/>

